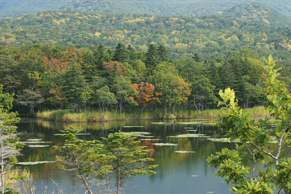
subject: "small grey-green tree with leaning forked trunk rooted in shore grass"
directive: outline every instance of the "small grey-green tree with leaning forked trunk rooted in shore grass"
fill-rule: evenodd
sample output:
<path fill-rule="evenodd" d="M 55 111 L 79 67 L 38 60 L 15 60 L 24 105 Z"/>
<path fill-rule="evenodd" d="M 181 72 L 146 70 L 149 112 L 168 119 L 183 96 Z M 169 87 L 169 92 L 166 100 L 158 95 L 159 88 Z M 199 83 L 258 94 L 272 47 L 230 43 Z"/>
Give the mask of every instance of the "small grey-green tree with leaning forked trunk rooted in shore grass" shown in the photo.
<path fill-rule="evenodd" d="M 95 92 L 95 103 L 99 104 L 99 107 L 101 108 L 102 112 L 104 113 L 102 120 L 105 117 L 105 114 L 107 112 L 107 109 L 109 105 L 117 104 L 117 100 L 112 92 L 110 92 L 108 86 L 104 86 L 100 89 L 98 89 Z M 104 111 L 105 109 L 105 111 Z"/>

